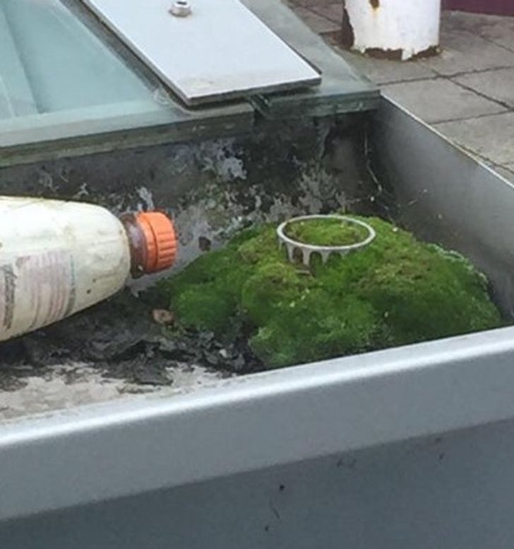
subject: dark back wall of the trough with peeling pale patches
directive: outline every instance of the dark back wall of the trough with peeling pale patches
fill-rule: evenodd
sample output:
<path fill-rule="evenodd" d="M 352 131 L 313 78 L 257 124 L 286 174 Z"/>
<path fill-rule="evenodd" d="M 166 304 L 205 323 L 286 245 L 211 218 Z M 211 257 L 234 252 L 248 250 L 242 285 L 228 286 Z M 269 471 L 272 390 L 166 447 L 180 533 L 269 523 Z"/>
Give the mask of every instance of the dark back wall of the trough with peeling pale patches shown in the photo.
<path fill-rule="evenodd" d="M 353 203 L 361 174 L 350 118 L 261 122 L 239 138 L 6 168 L 0 194 L 84 199 L 116 214 L 167 211 L 179 232 L 179 269 L 205 252 L 203 243 L 215 249 L 252 223 L 345 210 Z M 133 283 L 133 291 L 155 278 Z"/>

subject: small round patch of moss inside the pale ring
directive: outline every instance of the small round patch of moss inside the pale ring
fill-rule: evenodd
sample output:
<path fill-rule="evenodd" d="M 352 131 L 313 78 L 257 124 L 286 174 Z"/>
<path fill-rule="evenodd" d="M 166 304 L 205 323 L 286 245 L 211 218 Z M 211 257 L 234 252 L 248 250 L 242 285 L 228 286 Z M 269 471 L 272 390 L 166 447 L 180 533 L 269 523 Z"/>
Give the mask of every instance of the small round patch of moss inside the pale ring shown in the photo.
<path fill-rule="evenodd" d="M 330 218 L 296 221 L 287 226 L 285 234 L 296 242 L 315 246 L 349 246 L 369 236 L 362 225 Z"/>

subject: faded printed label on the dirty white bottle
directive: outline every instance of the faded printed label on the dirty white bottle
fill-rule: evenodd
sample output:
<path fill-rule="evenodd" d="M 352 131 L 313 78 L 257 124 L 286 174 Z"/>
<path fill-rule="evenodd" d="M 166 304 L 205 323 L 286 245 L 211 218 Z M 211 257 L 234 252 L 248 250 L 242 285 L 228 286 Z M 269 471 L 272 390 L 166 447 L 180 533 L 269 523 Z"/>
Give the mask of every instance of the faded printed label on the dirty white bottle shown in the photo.
<path fill-rule="evenodd" d="M 52 324 L 71 314 L 76 303 L 73 256 L 52 250 L 19 256 L 0 266 L 0 326 L 23 331 Z M 22 310 L 23 309 L 23 310 Z"/>

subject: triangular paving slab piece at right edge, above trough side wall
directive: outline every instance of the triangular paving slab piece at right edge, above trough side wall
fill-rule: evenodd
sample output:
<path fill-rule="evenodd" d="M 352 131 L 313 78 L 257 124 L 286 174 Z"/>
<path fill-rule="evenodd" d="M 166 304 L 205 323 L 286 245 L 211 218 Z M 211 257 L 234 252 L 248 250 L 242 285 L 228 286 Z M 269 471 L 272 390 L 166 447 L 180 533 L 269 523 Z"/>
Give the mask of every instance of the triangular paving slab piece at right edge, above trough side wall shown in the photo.
<path fill-rule="evenodd" d="M 434 126 L 480 158 L 496 165 L 514 164 L 514 112 Z"/>

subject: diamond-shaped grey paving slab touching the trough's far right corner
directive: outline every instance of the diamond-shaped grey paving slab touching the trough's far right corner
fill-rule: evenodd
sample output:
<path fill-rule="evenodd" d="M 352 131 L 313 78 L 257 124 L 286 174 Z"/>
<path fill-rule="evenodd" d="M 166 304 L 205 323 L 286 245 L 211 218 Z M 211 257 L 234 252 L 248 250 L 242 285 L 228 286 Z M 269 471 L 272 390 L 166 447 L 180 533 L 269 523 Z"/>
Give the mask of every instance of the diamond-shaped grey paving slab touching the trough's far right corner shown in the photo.
<path fill-rule="evenodd" d="M 502 105 L 443 78 L 389 84 L 382 93 L 431 124 L 506 112 Z"/>

